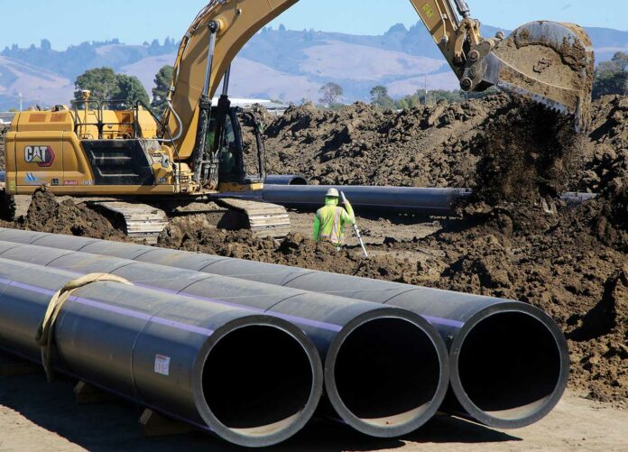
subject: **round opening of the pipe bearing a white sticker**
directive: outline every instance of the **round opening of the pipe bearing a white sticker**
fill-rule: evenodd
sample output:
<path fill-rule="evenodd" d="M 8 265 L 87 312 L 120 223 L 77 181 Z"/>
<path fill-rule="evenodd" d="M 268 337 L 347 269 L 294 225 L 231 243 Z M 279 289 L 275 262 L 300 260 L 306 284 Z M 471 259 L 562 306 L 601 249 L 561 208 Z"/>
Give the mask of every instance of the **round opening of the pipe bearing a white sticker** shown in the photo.
<path fill-rule="evenodd" d="M 306 408 L 314 377 L 300 342 L 277 327 L 241 327 L 222 337 L 203 367 L 209 410 L 227 429 L 268 436 Z"/>

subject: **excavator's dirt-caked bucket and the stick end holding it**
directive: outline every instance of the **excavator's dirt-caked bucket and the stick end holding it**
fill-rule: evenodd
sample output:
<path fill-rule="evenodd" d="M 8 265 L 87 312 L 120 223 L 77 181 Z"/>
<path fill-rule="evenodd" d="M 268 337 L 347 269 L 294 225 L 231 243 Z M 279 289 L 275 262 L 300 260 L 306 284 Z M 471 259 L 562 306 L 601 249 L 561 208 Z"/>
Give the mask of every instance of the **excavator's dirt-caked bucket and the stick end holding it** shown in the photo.
<path fill-rule="evenodd" d="M 411 0 L 463 90 L 497 87 L 575 116 L 577 129 L 588 127 L 595 59 L 582 28 L 540 21 L 485 39 L 466 1 L 453 2 Z"/>

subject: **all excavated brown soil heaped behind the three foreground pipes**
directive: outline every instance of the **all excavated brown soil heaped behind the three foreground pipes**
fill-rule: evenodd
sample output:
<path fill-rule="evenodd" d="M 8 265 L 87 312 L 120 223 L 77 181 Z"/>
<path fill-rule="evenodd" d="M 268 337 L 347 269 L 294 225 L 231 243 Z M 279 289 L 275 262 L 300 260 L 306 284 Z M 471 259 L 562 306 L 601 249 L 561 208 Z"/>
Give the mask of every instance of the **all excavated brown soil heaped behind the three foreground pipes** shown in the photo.
<path fill-rule="evenodd" d="M 160 245 L 529 302 L 564 329 L 571 386 L 628 407 L 628 97 L 594 103 L 584 136 L 506 96 L 401 113 L 306 105 L 264 121 L 269 172 L 315 183 L 473 187 L 476 196 L 460 206 L 462 219 L 441 220 L 427 237 L 409 238 L 420 228 L 411 218 L 369 219 L 367 261 L 355 243 L 341 252 L 316 244 L 309 226 L 275 244 L 219 230 L 202 215 L 173 218 Z M 557 198 L 565 189 L 600 197 L 568 208 Z M 305 214 L 293 217 L 309 224 Z M 106 218 L 59 205 L 45 190 L 10 225 L 124 240 Z"/>

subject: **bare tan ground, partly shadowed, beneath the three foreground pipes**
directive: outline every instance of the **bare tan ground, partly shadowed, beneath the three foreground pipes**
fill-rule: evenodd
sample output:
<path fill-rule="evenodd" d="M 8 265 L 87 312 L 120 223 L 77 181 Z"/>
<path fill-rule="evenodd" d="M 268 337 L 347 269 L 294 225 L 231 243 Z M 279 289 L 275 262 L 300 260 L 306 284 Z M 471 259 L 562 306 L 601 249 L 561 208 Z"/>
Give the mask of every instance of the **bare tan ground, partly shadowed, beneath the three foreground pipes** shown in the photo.
<path fill-rule="evenodd" d="M 0 359 L 3 359 L 0 356 Z M 47 383 L 44 374 L 0 377 L 0 450 L 236 450 L 202 432 L 147 438 L 141 410 L 124 401 L 78 405 L 74 382 Z M 628 448 L 628 411 L 586 401 L 574 392 L 546 419 L 526 429 L 487 429 L 466 420 L 437 416 L 400 439 L 366 438 L 343 426 L 315 420 L 273 450 L 599 450 Z"/>

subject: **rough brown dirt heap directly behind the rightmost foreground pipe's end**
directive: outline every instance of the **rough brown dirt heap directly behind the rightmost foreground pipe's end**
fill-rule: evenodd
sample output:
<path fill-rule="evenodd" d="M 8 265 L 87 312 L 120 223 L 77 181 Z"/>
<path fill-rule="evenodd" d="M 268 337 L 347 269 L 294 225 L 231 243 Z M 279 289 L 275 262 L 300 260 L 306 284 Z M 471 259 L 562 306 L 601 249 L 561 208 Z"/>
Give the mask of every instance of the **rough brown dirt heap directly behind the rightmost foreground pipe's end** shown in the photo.
<path fill-rule="evenodd" d="M 445 230 L 410 247 L 439 250 L 420 284 L 522 300 L 565 330 L 572 385 L 603 401 L 628 400 L 626 254 L 601 244 L 579 218 L 522 204 L 494 208 L 462 230 Z"/>

